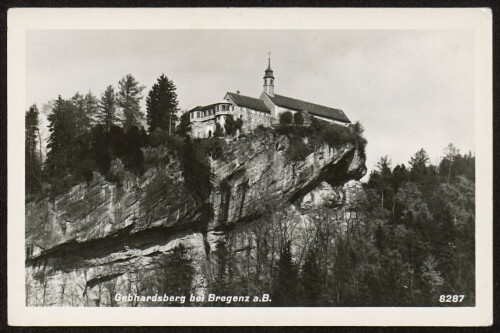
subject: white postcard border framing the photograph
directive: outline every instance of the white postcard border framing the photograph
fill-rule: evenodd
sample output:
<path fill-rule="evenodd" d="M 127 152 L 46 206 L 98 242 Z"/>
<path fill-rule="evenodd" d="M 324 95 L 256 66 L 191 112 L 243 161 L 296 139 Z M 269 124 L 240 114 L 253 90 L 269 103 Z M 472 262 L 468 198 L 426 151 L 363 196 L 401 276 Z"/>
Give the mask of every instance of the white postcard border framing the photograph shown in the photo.
<path fill-rule="evenodd" d="M 212 19 L 211 19 L 212 18 Z M 24 288 L 27 30 L 460 29 L 475 32 L 476 306 L 39 308 Z M 11 9 L 8 12 L 8 324 L 19 326 L 487 326 L 493 322 L 492 13 L 475 9 Z"/>

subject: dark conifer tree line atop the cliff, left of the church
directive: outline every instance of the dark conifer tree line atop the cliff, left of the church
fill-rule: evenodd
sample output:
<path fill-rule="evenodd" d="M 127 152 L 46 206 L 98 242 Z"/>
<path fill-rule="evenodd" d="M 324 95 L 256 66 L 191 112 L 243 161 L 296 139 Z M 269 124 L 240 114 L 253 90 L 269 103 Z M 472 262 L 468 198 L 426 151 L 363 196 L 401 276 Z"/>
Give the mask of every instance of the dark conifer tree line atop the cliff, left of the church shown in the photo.
<path fill-rule="evenodd" d="M 45 159 L 40 111 L 32 105 L 25 115 L 27 198 L 47 192 L 58 194 L 72 184 L 90 181 L 94 171 L 108 176 L 117 158 L 123 165 L 116 167 L 141 173 L 141 147 L 148 144 L 154 132 L 172 135 L 179 110 L 176 87 L 164 74 L 147 94 L 146 114 L 140 106 L 144 89 L 127 74 L 116 88 L 109 85 L 100 98 L 89 91 L 85 95 L 77 92 L 68 99 L 59 95 L 49 101 Z M 178 131 L 185 134 L 188 126 L 181 122 Z"/>

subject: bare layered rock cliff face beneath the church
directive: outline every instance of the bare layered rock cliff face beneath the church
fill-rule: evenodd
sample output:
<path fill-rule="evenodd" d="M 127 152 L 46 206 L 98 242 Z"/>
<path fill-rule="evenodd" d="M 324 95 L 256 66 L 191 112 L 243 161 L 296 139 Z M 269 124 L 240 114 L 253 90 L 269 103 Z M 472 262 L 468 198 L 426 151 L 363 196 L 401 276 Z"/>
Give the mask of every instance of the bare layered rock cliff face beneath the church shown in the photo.
<path fill-rule="evenodd" d="M 211 191 L 205 196 L 185 181 L 175 153 L 155 148 L 145 151 L 146 158 L 161 158 L 143 176 L 124 173 L 116 163 L 123 174 L 118 183 L 95 174 L 55 200 L 27 203 L 27 303 L 112 305 L 111 289 L 130 292 L 179 243 L 194 258 L 193 293 L 203 294 L 205 264 L 221 242 L 234 253 L 250 249 L 255 259 L 255 227 L 277 220 L 294 223 L 293 237 L 306 243 L 324 206 L 335 207 L 336 223 L 346 225 L 363 200 L 352 181 L 366 172 L 358 149 L 324 144 L 292 162 L 285 157 L 288 144 L 270 131 L 227 142 L 222 158 L 208 160 Z"/>

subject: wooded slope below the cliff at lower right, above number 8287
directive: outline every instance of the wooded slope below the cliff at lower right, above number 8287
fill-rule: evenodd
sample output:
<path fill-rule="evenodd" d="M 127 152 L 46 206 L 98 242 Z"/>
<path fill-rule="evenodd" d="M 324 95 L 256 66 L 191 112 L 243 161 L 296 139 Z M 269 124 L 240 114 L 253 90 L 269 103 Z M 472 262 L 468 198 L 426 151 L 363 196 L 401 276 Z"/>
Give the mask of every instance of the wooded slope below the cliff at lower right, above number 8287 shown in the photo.
<path fill-rule="evenodd" d="M 209 291 L 270 293 L 274 306 L 473 305 L 474 162 L 452 144 L 438 165 L 423 149 L 408 166 L 384 156 L 364 198 L 348 211 L 317 208 L 305 228 L 270 204 L 220 242 L 205 272 Z"/>

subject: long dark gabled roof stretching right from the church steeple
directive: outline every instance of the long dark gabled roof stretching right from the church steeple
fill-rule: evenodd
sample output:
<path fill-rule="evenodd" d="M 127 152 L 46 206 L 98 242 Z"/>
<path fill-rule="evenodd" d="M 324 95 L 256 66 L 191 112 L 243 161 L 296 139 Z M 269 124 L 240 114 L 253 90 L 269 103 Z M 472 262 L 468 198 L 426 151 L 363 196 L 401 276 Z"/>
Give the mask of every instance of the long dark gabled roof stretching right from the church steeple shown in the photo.
<path fill-rule="evenodd" d="M 338 121 L 343 121 L 345 123 L 350 123 L 351 121 L 344 114 L 344 111 L 339 109 L 330 108 L 327 106 L 314 104 L 310 102 L 301 101 L 299 99 L 290 98 L 278 94 L 274 96 L 267 95 L 271 101 L 281 107 L 296 110 L 296 111 L 307 111 L 312 115 L 325 117 L 329 119 L 334 119 Z"/>

